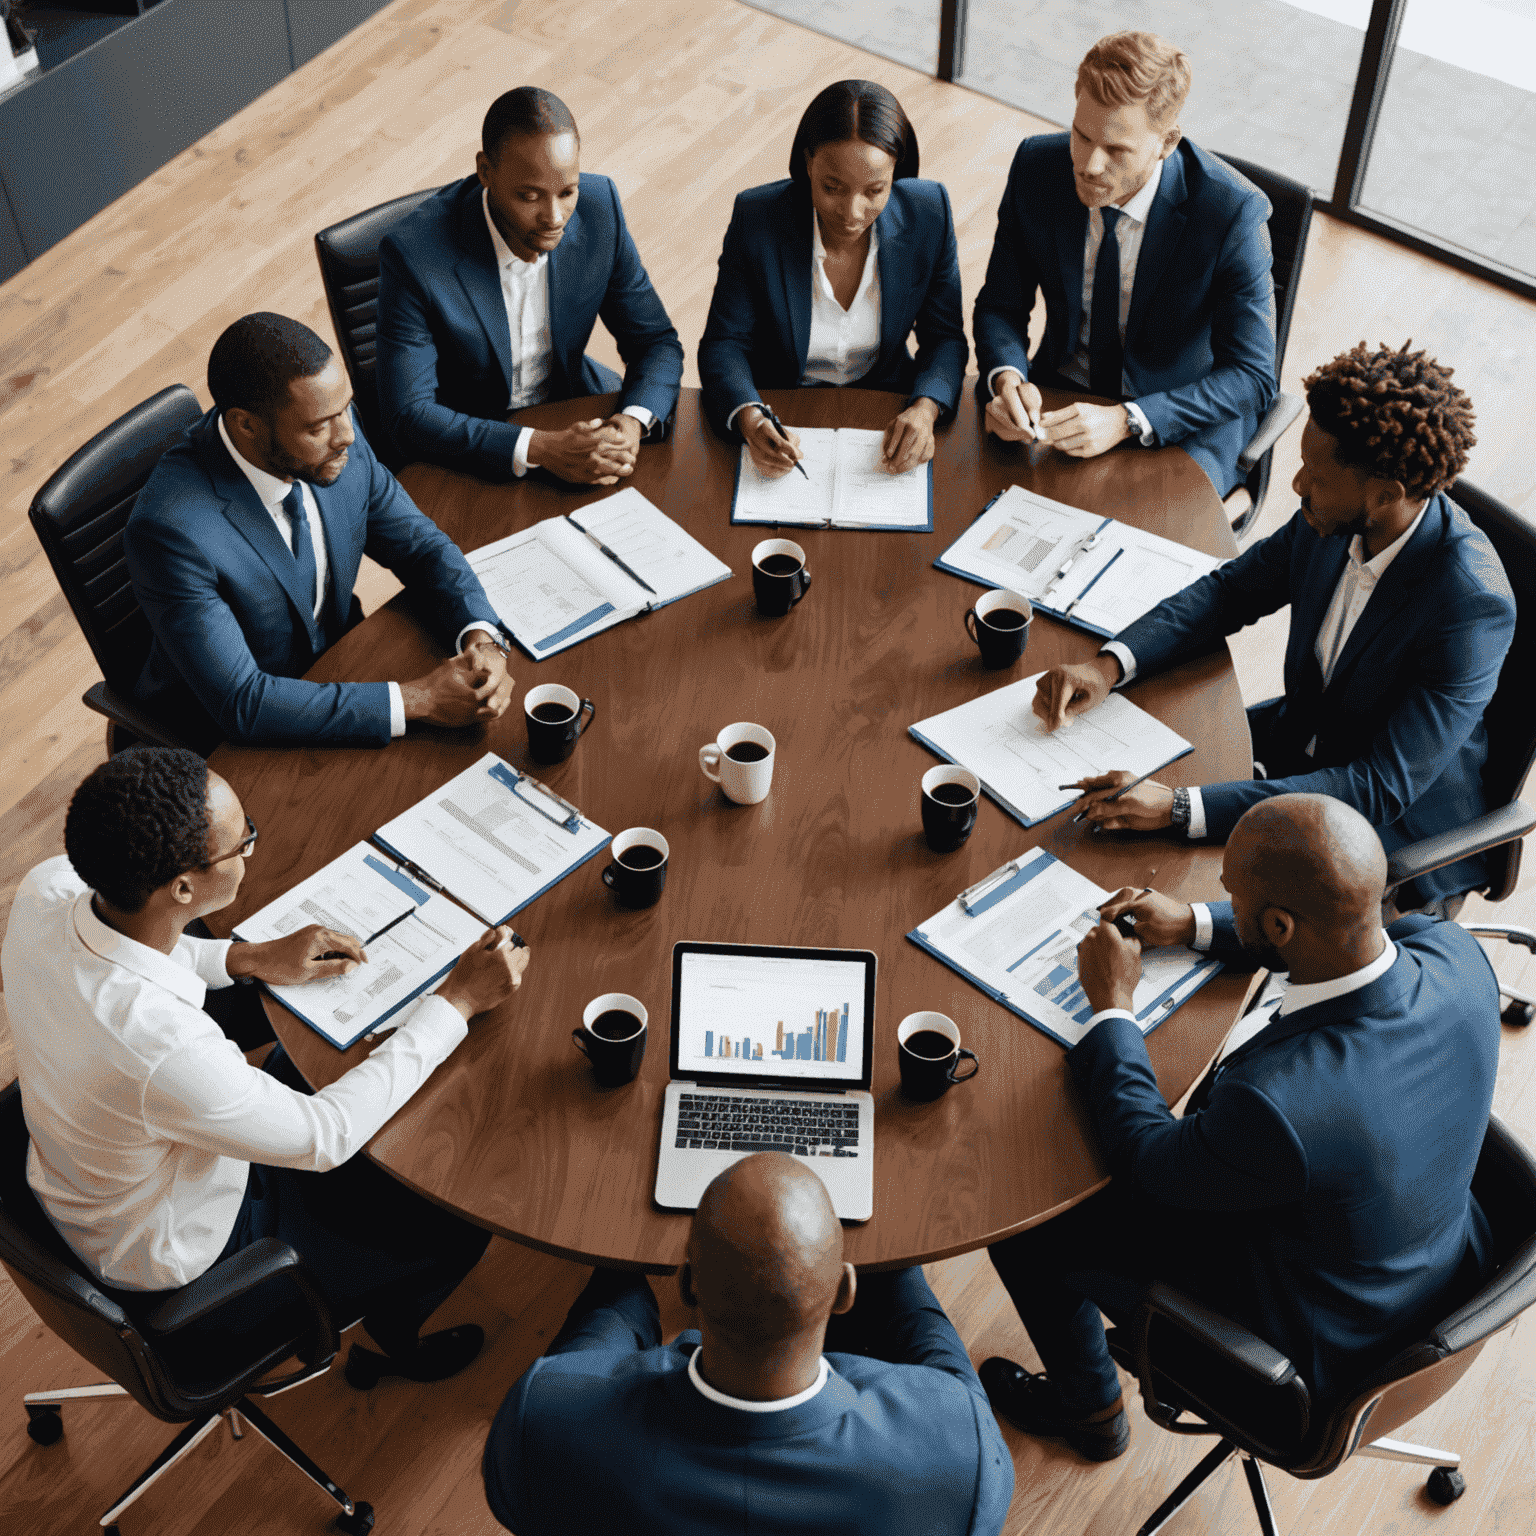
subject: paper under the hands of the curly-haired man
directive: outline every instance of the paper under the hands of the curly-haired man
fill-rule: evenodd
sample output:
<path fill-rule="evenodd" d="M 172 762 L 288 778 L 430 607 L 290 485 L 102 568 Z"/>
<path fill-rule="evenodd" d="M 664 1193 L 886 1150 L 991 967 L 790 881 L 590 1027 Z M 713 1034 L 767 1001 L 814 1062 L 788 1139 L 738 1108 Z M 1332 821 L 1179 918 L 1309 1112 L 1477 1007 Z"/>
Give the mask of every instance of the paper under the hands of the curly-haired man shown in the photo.
<path fill-rule="evenodd" d="M 982 788 L 1025 826 L 1055 816 L 1077 800 L 1063 783 L 1124 768 L 1157 773 L 1193 751 L 1178 731 L 1138 710 L 1123 693 L 1074 714 L 1048 731 L 1034 711 L 1035 684 L 1044 673 L 931 714 L 909 731 L 931 753 L 969 768 Z"/>

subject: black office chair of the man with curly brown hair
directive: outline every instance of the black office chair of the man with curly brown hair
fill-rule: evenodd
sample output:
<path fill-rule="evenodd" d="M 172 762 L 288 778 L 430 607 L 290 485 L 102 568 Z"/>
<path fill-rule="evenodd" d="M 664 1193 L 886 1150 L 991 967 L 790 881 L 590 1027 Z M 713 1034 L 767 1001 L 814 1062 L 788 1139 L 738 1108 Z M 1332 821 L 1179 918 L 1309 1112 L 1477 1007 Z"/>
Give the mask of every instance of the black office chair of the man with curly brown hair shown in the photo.
<path fill-rule="evenodd" d="M 1510 587 L 1514 588 L 1518 610 L 1514 642 L 1504 657 L 1498 691 L 1482 714 L 1488 731 L 1482 788 L 1493 809 L 1453 831 L 1399 848 L 1387 860 L 1387 880 L 1390 885 L 1404 885 L 1459 859 L 1488 852 L 1488 883 L 1481 894 L 1488 902 L 1502 902 L 1519 883 L 1521 839 L 1536 828 L 1536 809 L 1519 797 L 1531 763 L 1536 762 L 1536 710 L 1531 708 L 1531 668 L 1536 668 L 1536 519 L 1505 507 L 1467 479 L 1456 481 L 1448 495 L 1488 536 Z M 1513 923 L 1468 923 L 1467 931 L 1479 938 L 1504 938 L 1536 954 L 1536 929 Z M 1511 986 L 1501 986 L 1501 992 L 1510 1000 L 1504 1009 L 1504 1021 L 1528 1025 L 1536 1015 L 1536 998 Z"/>

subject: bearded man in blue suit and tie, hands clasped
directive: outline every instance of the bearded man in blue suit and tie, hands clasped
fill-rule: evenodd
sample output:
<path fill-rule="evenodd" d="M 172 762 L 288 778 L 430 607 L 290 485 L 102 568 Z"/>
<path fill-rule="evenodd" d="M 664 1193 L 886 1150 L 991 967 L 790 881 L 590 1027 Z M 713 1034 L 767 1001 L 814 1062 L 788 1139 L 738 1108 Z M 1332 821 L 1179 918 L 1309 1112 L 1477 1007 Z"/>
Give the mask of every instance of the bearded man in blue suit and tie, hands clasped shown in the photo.
<path fill-rule="evenodd" d="M 330 347 L 284 315 L 237 319 L 207 359 L 214 409 L 155 465 L 123 533 L 154 631 L 137 697 L 200 751 L 223 736 L 384 746 L 407 720 L 495 720 L 511 697 L 496 610 L 453 541 L 355 430 Z M 412 682 L 304 682 L 362 622 L 369 554 L 458 654 Z"/>

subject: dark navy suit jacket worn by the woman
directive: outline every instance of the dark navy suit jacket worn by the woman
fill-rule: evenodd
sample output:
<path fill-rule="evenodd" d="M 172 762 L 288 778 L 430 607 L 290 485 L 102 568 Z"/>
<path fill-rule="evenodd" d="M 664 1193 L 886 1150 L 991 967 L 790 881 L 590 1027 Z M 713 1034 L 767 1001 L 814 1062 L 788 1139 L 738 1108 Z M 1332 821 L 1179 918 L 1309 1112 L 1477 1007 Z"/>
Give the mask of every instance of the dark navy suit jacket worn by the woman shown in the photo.
<path fill-rule="evenodd" d="M 716 432 L 765 389 L 794 389 L 811 346 L 811 192 L 771 181 L 736 198 L 720 275 L 699 343 L 703 409 Z M 908 177 L 876 220 L 880 250 L 880 353 L 860 389 L 926 395 L 954 413 L 969 347 L 960 309 L 960 258 L 949 194 Z M 906 338 L 917 329 L 917 356 Z"/>

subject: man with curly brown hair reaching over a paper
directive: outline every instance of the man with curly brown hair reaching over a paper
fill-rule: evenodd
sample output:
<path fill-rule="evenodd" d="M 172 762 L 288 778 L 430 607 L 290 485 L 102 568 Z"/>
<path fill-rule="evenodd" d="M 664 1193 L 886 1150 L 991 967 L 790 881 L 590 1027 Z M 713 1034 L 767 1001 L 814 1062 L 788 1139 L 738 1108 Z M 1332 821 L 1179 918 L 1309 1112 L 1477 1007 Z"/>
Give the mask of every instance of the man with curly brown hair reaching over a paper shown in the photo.
<path fill-rule="evenodd" d="M 1306 381 L 1301 510 L 1267 539 L 1137 619 L 1091 662 L 1052 667 L 1035 691 L 1049 730 L 1117 684 L 1189 660 L 1290 604 L 1286 694 L 1247 711 L 1256 779 L 1169 790 L 1084 779 L 1095 826 L 1224 840 L 1272 794 L 1353 805 L 1390 852 L 1488 809 L 1482 710 L 1514 637 L 1498 554 L 1444 495 L 1467 462 L 1471 402 L 1422 352 L 1364 343 Z M 1398 908 L 1455 899 L 1485 877 L 1476 856 L 1422 876 Z M 1448 911 L 1448 908 L 1447 908 Z"/>

